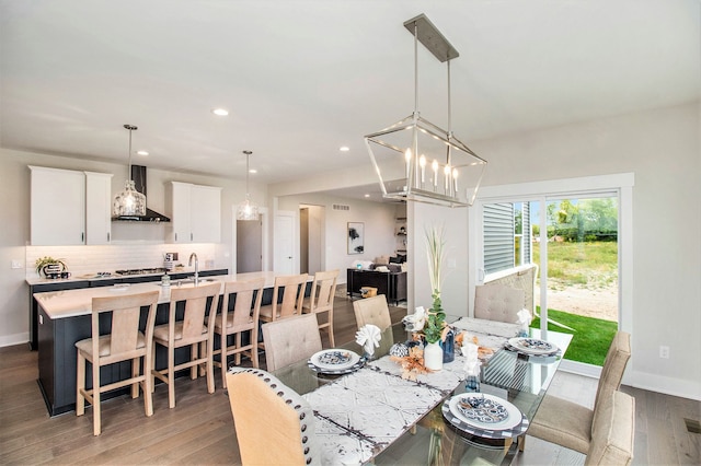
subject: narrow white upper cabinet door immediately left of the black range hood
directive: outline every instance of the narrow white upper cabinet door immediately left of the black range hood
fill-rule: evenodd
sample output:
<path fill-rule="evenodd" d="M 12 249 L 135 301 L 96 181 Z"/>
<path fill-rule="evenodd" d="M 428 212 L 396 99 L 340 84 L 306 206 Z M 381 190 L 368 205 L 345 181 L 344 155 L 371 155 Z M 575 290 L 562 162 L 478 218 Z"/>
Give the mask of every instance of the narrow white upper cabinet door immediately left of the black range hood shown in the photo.
<path fill-rule="evenodd" d="M 85 172 L 85 244 L 112 241 L 112 174 Z"/>

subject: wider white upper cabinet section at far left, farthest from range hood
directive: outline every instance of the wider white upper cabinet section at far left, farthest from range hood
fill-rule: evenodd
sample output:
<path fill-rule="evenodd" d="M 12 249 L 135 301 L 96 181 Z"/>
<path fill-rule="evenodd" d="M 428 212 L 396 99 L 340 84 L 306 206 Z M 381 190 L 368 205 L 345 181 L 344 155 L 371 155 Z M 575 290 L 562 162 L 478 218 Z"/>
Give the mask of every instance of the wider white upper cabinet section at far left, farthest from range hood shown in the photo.
<path fill-rule="evenodd" d="M 33 246 L 85 244 L 85 174 L 30 166 Z"/>

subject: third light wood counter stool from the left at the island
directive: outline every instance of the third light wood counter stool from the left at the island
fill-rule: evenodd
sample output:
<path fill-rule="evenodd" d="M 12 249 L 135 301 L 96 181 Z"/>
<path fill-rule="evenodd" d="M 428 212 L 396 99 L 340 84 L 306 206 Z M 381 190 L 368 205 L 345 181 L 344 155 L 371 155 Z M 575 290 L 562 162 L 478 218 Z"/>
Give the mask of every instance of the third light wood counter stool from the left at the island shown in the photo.
<path fill-rule="evenodd" d="M 212 352 L 212 357 L 220 354 L 220 360 L 214 364 L 221 368 L 221 383 L 227 387 L 228 357 L 234 357 L 234 363 L 241 364 L 241 354 L 251 358 L 254 368 L 258 366 L 258 314 L 265 278 L 249 281 L 229 281 L 223 284 L 221 313 L 215 318 L 215 335 L 220 337 L 220 348 Z M 229 306 L 232 302 L 232 310 Z M 233 345 L 229 345 L 229 337 Z M 244 343 L 243 337 L 249 337 Z"/>

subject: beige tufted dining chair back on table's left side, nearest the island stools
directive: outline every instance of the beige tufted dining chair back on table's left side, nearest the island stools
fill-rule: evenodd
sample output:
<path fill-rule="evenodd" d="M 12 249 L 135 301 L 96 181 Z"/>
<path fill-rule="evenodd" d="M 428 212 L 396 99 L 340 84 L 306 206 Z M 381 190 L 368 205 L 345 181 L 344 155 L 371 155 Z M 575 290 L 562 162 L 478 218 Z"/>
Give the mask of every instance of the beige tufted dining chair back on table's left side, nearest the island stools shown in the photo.
<path fill-rule="evenodd" d="M 268 322 L 261 329 L 268 371 L 307 359 L 322 349 L 317 316 L 313 314 Z"/>

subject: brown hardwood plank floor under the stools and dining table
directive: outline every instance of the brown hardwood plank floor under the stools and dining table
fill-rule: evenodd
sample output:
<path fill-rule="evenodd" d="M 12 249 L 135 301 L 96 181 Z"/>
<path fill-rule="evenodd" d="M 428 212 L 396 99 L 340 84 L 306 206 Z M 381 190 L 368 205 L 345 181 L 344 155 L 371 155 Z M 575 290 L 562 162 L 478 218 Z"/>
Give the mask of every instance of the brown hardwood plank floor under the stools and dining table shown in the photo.
<path fill-rule="evenodd" d="M 392 321 L 405 308 L 391 307 Z M 336 299 L 336 341 L 356 331 L 349 300 Z M 324 347 L 327 347 L 324 339 Z M 217 391 L 209 395 L 204 378 L 179 378 L 177 405 L 168 408 L 168 389 L 159 386 L 152 417 L 143 415 L 141 397 L 103 401 L 100 436 L 92 434 L 92 411 L 49 418 L 37 378 L 37 353 L 26 345 L 0 349 L 0 464 L 240 464 L 239 451 L 218 371 Z M 551 393 L 591 406 L 595 380 L 558 373 Z M 701 420 L 701 404 L 631 387 L 635 396 L 635 458 L 640 465 L 701 464 L 701 434 L 689 433 L 685 418 Z M 584 455 L 528 438 L 525 453 L 513 465 L 584 464 Z"/>

